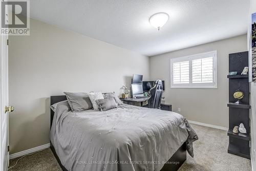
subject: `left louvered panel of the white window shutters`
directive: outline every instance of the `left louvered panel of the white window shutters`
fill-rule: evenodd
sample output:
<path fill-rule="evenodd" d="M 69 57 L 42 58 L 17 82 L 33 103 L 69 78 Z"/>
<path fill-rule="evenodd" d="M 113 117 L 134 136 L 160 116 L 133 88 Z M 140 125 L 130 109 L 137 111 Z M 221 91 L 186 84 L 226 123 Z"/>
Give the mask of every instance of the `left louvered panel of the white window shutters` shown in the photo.
<path fill-rule="evenodd" d="M 174 83 L 189 83 L 189 61 L 173 63 Z"/>

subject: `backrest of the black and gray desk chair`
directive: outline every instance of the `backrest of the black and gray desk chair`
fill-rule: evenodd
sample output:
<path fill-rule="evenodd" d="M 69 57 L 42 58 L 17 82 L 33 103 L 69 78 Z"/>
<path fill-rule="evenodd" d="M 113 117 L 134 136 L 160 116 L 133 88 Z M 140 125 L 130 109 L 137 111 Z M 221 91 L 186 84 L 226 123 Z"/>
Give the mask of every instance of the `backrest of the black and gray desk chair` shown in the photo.
<path fill-rule="evenodd" d="M 157 80 L 155 86 L 150 89 L 150 98 L 148 98 L 147 103 L 150 108 L 160 108 L 161 99 L 163 93 L 163 84 L 161 80 Z"/>

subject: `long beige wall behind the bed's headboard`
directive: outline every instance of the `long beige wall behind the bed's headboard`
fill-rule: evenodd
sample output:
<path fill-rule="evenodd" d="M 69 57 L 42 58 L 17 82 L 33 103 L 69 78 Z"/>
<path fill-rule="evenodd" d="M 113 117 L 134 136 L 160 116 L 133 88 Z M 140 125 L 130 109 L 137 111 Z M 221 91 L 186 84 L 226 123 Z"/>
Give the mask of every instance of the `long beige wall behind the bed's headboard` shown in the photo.
<path fill-rule="evenodd" d="M 132 74 L 148 79 L 148 57 L 34 19 L 30 36 L 9 40 L 11 154 L 49 143 L 51 95 L 120 93 Z"/>

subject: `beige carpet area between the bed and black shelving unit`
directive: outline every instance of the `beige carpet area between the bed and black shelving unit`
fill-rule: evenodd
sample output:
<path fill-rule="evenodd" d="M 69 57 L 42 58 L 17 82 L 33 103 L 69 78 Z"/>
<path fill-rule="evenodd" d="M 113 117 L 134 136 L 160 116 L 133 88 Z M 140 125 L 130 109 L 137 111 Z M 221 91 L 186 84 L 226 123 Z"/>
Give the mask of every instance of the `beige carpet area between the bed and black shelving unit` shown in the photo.
<path fill-rule="evenodd" d="M 187 155 L 183 170 L 251 170 L 251 161 L 227 153 L 227 131 L 191 124 L 199 140 L 194 143 L 194 158 Z"/>

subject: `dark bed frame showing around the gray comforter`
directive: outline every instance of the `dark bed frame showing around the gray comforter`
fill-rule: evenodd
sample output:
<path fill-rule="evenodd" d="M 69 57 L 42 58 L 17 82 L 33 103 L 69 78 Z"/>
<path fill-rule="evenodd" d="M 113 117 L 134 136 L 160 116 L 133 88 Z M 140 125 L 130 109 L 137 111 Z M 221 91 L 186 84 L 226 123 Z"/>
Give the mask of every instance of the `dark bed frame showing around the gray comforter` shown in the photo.
<path fill-rule="evenodd" d="M 65 95 L 61 96 L 51 96 L 51 105 L 63 100 L 67 100 L 67 97 Z M 51 110 L 51 126 L 53 121 L 54 112 Z M 60 167 L 63 171 L 68 171 L 60 162 L 58 155 L 56 154 L 55 148 L 53 144 L 50 142 L 50 148 L 57 159 Z M 168 163 L 164 164 L 163 168 L 160 171 L 177 171 L 180 166 L 184 163 L 186 160 L 186 143 L 184 142 L 181 147 L 175 152 L 175 154 L 168 160 Z"/>

